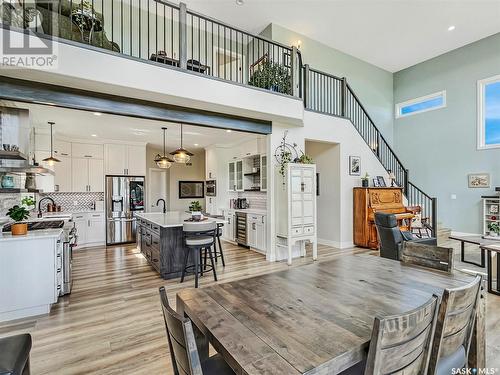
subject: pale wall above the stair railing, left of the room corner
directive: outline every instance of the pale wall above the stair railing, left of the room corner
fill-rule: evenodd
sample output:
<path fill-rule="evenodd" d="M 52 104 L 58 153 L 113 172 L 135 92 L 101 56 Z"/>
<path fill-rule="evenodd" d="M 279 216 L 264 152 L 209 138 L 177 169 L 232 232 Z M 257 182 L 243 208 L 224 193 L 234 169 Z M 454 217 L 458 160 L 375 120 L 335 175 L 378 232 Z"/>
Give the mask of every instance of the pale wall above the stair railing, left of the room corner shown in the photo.
<path fill-rule="evenodd" d="M 302 42 L 300 51 L 304 64 L 312 68 L 346 77 L 359 96 L 375 125 L 392 144 L 393 140 L 393 74 L 344 52 L 306 37 L 305 35 L 272 24 L 263 35 L 282 44 L 295 45 Z"/>

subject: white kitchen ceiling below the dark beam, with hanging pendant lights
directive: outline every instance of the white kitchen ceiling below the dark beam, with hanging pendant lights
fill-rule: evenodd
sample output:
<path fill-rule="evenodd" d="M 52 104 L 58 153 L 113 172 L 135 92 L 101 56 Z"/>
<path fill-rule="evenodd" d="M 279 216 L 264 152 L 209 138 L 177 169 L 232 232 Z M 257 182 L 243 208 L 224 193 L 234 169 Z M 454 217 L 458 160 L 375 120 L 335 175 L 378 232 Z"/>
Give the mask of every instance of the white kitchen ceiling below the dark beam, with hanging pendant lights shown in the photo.
<path fill-rule="evenodd" d="M 140 142 L 163 148 L 161 128 L 167 127 L 167 149 L 173 151 L 180 145 L 180 124 L 177 123 L 107 114 L 96 116 L 93 112 L 37 104 L 6 102 L 3 105 L 28 109 L 30 122 L 37 128 L 48 130 L 47 122 L 54 121 L 54 134 L 59 137 L 93 142 Z M 259 137 L 256 134 L 193 125 L 184 125 L 183 133 L 184 148 L 190 151 L 214 144 L 235 145 Z"/>

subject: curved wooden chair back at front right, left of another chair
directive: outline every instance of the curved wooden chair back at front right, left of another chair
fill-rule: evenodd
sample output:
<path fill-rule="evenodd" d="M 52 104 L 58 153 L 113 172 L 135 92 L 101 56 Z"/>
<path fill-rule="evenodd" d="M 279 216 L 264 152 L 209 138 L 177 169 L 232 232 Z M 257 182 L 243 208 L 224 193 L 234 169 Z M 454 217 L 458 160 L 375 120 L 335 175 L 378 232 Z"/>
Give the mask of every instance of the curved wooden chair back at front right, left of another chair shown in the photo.
<path fill-rule="evenodd" d="M 439 297 L 401 315 L 375 318 L 365 375 L 425 375 Z"/>

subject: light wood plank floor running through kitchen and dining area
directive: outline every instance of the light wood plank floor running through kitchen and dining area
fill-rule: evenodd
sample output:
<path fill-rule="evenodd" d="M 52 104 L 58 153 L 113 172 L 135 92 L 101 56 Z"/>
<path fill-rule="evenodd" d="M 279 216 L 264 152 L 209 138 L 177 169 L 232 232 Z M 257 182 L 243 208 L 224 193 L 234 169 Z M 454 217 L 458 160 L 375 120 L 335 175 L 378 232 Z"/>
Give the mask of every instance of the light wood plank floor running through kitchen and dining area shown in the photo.
<path fill-rule="evenodd" d="M 217 267 L 219 282 L 287 269 L 285 262 L 269 263 L 256 252 L 228 243 L 227 266 Z M 458 248 L 458 247 L 457 247 Z M 365 249 L 318 247 L 323 262 Z M 292 267 L 312 262 L 311 254 Z M 60 298 L 50 315 L 0 324 L 0 336 L 33 335 L 33 374 L 171 374 L 172 367 L 158 297 L 164 285 L 175 305 L 193 277 L 162 280 L 133 246 L 93 248 L 74 252 L 71 295 Z M 211 275 L 201 287 L 212 284 Z M 488 296 L 489 367 L 500 367 L 500 297 Z"/>

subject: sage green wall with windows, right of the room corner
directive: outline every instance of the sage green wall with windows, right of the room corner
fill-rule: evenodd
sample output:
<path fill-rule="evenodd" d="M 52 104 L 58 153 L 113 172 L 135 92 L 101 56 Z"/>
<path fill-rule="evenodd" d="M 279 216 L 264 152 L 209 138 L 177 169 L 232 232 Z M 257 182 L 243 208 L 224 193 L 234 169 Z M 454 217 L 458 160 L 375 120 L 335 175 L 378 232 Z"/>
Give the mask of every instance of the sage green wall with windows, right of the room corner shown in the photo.
<path fill-rule="evenodd" d="M 410 179 L 438 198 L 439 220 L 455 231 L 481 233 L 481 195 L 500 186 L 500 149 L 477 149 L 477 81 L 498 74 L 500 34 L 394 75 L 395 103 L 446 90 L 446 108 L 395 121 L 394 143 Z M 489 172 L 492 188 L 469 189 L 475 172 Z"/>

